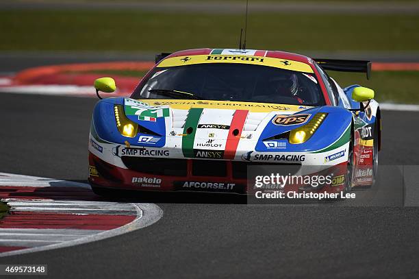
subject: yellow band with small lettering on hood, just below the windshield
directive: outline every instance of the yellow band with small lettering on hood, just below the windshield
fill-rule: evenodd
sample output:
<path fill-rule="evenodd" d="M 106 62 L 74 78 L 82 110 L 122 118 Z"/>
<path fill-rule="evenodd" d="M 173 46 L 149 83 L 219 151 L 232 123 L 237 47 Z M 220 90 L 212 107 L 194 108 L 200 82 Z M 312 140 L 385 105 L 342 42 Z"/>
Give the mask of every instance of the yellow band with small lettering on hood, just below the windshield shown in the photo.
<path fill-rule="evenodd" d="M 300 106 L 251 103 L 247 101 L 205 101 L 205 100 L 181 100 L 181 99 L 140 99 L 150 106 L 169 106 L 177 110 L 189 110 L 190 108 L 218 108 L 225 110 L 249 110 L 250 112 L 272 112 L 276 110 L 300 111 L 305 108 Z"/>

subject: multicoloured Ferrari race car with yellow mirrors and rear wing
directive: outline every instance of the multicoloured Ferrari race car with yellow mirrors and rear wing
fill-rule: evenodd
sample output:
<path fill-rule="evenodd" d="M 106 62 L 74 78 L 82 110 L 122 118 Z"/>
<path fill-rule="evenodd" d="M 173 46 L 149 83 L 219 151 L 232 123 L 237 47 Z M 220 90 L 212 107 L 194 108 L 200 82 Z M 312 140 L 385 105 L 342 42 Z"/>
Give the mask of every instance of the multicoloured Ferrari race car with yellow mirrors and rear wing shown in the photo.
<path fill-rule="evenodd" d="M 108 97 L 94 107 L 88 182 L 99 195 L 122 189 L 246 194 L 255 189 L 248 168 L 293 166 L 295 173 L 326 171 L 331 179 L 281 191 L 371 186 L 381 148 L 374 91 L 342 89 L 326 72 L 369 78 L 370 67 L 251 49 L 157 55 L 130 97 Z M 110 77 L 94 86 L 98 96 L 116 89 Z"/>

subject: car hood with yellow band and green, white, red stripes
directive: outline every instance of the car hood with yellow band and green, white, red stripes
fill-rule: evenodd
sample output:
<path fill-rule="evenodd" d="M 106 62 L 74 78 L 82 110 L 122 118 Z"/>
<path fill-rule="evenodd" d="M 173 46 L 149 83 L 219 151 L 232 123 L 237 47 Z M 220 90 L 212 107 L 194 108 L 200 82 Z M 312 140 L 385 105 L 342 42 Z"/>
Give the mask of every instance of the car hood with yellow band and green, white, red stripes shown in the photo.
<path fill-rule="evenodd" d="M 249 135 L 258 130 L 272 130 L 273 134 L 287 132 L 296 128 L 298 123 L 275 125 L 274 117 L 299 114 L 303 110 L 318 110 L 308 106 L 242 101 L 129 98 L 124 100 L 124 109 L 131 121 L 159 136 L 193 133 L 194 138 L 224 140 L 230 134 L 251 137 Z M 268 136 L 271 134 L 267 133 Z"/>

